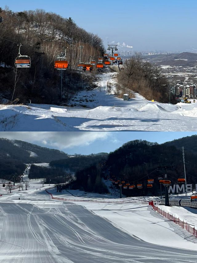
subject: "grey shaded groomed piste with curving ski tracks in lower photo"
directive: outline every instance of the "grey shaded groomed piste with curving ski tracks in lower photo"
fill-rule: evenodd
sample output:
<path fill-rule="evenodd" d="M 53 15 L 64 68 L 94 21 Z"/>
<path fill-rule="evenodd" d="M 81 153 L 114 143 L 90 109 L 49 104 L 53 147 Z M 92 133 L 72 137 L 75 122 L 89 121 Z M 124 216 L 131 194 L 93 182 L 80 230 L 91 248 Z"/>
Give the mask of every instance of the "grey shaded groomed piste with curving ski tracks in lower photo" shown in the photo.
<path fill-rule="evenodd" d="M 0 217 L 2 263 L 196 262 L 196 251 L 147 243 L 45 191 L 2 197 Z"/>

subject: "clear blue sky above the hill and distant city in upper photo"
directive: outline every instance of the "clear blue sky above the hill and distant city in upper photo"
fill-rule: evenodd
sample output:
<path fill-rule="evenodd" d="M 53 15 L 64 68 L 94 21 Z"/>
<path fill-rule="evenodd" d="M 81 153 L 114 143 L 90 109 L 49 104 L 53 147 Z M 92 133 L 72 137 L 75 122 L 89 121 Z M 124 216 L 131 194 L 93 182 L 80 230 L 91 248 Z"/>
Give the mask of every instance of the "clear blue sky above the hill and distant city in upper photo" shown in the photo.
<path fill-rule="evenodd" d="M 197 49 L 195 0 L 1 0 L 13 11 L 44 9 L 71 17 L 79 27 L 134 50 Z M 125 48 L 123 48 L 125 49 Z"/>

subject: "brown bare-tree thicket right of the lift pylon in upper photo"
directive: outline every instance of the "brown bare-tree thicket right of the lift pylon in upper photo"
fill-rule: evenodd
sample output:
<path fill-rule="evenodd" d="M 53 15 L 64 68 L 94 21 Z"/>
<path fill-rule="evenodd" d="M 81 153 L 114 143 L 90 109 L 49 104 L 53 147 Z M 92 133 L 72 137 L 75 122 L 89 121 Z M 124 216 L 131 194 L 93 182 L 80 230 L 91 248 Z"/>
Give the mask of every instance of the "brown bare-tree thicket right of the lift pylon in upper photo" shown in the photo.
<path fill-rule="evenodd" d="M 140 54 L 136 54 L 124 63 L 123 69 L 118 74 L 117 95 L 124 93 L 139 93 L 147 100 L 168 102 L 169 81 L 162 74 L 162 70 L 155 65 L 144 62 Z M 172 103 L 175 98 L 172 98 Z"/>

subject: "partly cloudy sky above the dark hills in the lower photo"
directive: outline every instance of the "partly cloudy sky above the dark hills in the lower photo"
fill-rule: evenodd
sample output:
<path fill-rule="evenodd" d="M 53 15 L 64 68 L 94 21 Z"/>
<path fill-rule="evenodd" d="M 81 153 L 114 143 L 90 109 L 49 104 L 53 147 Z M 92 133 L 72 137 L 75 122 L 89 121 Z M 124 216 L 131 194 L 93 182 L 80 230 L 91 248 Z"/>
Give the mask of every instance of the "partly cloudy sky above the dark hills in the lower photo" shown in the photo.
<path fill-rule="evenodd" d="M 142 139 L 163 143 L 197 132 L 0 132 L 0 138 L 22 140 L 68 154 L 111 152 L 123 143 Z"/>

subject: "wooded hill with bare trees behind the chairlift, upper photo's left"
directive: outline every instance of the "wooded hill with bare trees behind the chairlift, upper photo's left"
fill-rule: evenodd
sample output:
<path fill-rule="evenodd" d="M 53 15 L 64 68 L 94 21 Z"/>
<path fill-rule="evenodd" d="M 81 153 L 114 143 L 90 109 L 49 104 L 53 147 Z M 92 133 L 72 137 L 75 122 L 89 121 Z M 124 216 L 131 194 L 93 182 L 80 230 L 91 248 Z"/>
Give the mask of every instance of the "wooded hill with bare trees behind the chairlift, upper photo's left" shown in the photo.
<path fill-rule="evenodd" d="M 91 74 L 79 74 L 80 45 L 83 46 L 81 61 L 89 62 L 104 52 L 103 42 L 97 35 L 86 32 L 76 25 L 69 13 L 63 18 L 45 10 L 12 12 L 0 9 L 0 103 L 7 101 L 32 103 L 60 103 L 60 71 L 54 70 L 54 60 L 66 50 L 69 68 L 63 70 L 62 102 L 92 83 Z M 22 43 L 21 55 L 31 58 L 31 68 L 14 67 L 18 44 Z"/>

